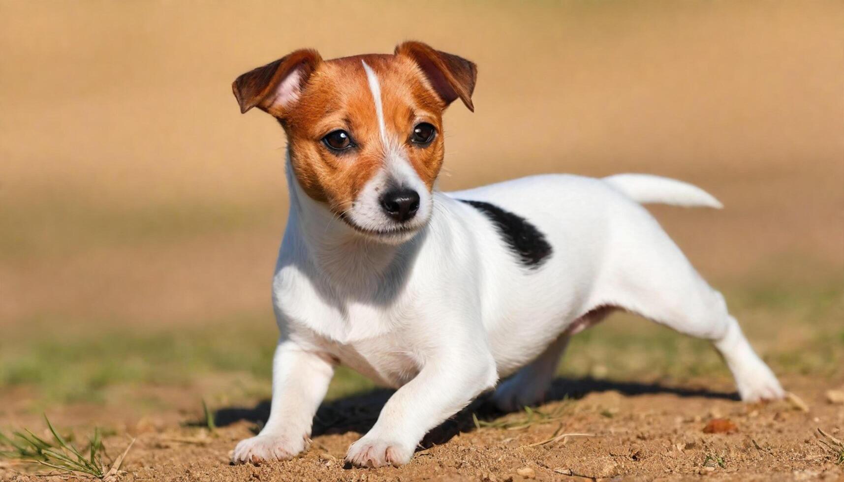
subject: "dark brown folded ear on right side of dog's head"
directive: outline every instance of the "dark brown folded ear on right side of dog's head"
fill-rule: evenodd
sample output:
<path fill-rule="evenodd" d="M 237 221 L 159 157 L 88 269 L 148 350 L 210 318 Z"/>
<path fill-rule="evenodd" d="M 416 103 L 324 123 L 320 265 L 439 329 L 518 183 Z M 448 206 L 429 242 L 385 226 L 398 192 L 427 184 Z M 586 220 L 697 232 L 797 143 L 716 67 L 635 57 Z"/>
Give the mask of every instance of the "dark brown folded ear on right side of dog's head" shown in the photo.
<path fill-rule="evenodd" d="M 451 104 L 458 98 L 469 111 L 474 111 L 472 91 L 478 68 L 473 62 L 444 51 L 434 50 L 422 42 L 407 41 L 396 46 L 396 55 L 410 57 L 425 73 L 431 87 L 446 103 Z"/>

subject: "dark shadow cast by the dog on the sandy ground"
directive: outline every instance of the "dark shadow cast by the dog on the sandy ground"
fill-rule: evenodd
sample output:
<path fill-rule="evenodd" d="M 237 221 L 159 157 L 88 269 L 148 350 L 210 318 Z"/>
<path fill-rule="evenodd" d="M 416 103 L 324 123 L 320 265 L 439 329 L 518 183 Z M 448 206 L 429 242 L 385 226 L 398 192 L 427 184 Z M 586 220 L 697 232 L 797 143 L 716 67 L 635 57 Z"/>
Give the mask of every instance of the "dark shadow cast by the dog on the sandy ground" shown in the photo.
<path fill-rule="evenodd" d="M 588 393 L 615 391 L 624 395 L 642 395 L 650 393 L 670 393 L 679 397 L 722 398 L 738 400 L 735 393 L 713 392 L 705 389 L 668 387 L 659 383 L 612 382 L 595 378 L 557 378 L 552 383 L 546 402 L 564 398 L 578 399 Z M 378 414 L 394 390 L 376 389 L 345 398 L 338 398 L 322 403 L 314 418 L 312 436 L 343 434 L 346 432 L 366 433 L 375 425 Z M 241 420 L 262 425 L 269 416 L 269 400 L 263 400 L 253 408 L 229 407 L 219 409 L 214 414 L 218 426 L 231 425 Z M 490 402 L 490 394 L 484 393 L 468 407 L 455 414 L 442 425 L 430 431 L 420 444 L 427 448 L 452 439 L 461 432 L 475 429 L 473 414 L 479 420 L 493 420 L 505 413 L 496 409 Z"/>

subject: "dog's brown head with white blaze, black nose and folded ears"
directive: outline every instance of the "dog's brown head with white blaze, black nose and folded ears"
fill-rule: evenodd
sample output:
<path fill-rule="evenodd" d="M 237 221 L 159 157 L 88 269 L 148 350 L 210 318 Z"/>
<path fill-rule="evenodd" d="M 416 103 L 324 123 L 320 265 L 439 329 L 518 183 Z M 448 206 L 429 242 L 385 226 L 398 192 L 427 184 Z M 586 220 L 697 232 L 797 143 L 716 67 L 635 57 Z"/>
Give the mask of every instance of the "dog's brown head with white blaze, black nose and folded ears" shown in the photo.
<path fill-rule="evenodd" d="M 306 195 L 354 230 L 401 241 L 425 225 L 444 154 L 442 112 L 473 110 L 473 62 L 408 41 L 392 55 L 324 61 L 294 51 L 238 77 L 241 112 L 276 117 Z"/>

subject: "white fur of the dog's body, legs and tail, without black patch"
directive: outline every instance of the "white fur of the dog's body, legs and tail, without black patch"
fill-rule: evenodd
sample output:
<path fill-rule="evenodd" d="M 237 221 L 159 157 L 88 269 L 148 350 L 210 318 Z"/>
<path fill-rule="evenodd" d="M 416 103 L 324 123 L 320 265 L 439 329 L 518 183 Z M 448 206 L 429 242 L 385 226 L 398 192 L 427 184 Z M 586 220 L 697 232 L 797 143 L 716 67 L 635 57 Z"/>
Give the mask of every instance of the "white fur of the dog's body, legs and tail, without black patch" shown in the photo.
<path fill-rule="evenodd" d="M 333 220 L 287 171 L 289 221 L 273 279 L 281 335 L 272 414 L 259 436 L 238 444 L 235 461 L 304 450 L 331 367 L 343 363 L 398 388 L 348 460 L 407 463 L 427 431 L 502 377 L 517 373 L 495 394 L 502 408 L 540 400 L 568 336 L 596 322 L 591 313 L 601 306 L 712 340 L 744 400 L 782 397 L 722 296 L 631 199 L 712 205 L 702 191 L 682 193 L 678 181 L 656 178 L 565 175 L 435 191 L 419 230 L 381 242 Z M 525 268 L 490 219 L 457 199 L 522 216 L 552 254 Z"/>

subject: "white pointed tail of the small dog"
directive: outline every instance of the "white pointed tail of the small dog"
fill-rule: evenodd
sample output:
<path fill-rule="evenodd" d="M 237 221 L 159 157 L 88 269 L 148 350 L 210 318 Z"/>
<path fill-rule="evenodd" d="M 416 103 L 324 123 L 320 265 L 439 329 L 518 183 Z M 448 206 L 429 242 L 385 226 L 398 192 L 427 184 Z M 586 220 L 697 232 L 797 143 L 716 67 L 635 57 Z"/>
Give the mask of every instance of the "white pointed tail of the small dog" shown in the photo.
<path fill-rule="evenodd" d="M 607 176 L 603 181 L 624 193 L 636 203 L 660 203 L 684 208 L 714 208 L 724 206 L 709 192 L 688 182 L 668 179 L 668 177 L 649 174 L 616 174 Z"/>

